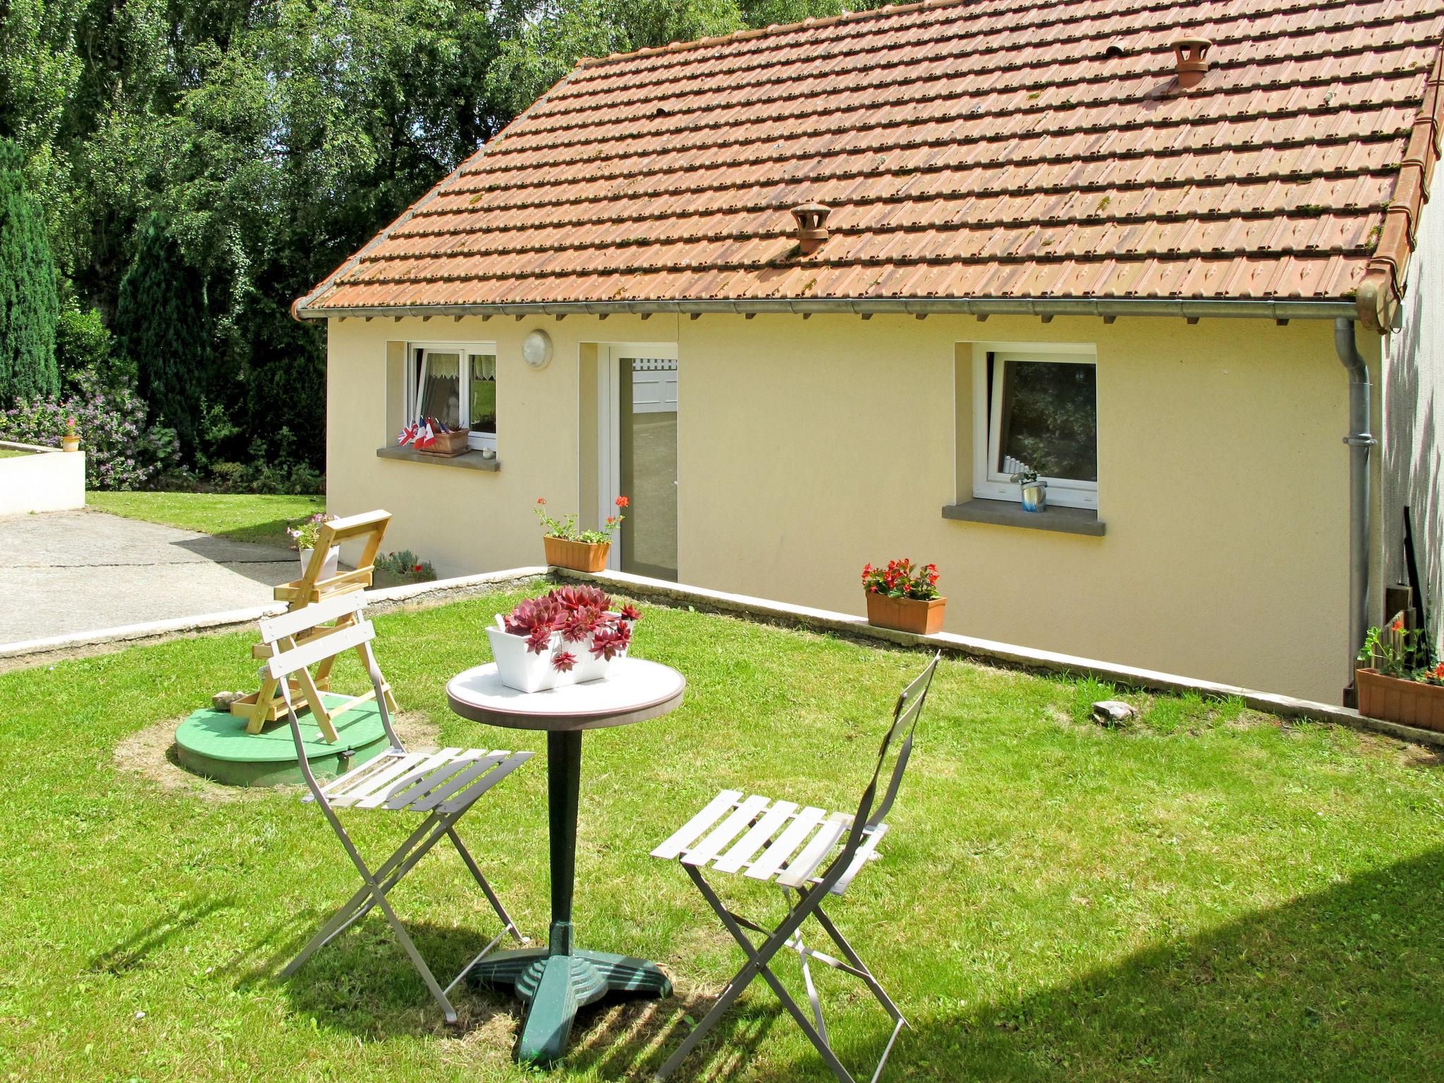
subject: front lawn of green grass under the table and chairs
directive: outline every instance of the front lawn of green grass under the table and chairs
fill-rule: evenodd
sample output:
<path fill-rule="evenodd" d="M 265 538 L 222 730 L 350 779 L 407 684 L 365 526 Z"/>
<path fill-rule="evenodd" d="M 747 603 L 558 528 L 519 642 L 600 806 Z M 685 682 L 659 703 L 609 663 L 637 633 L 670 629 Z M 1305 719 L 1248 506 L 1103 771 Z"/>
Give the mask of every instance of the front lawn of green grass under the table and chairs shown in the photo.
<path fill-rule="evenodd" d="M 543 748 L 458 719 L 443 693 L 485 660 L 481 630 L 514 601 L 377 619 L 403 708 L 448 744 Z M 448 1030 L 380 918 L 274 982 L 354 887 L 295 791 L 217 800 L 117 767 L 127 735 L 247 687 L 251 641 L 0 674 L 0 1079 L 530 1079 L 508 1058 L 516 1005 L 464 992 L 464 1027 Z M 656 606 L 637 653 L 686 673 L 687 699 L 586 736 L 578 941 L 661 962 L 680 996 L 583 1012 L 559 1080 L 645 1077 L 739 966 L 682 869 L 648 849 L 723 786 L 853 803 L 923 660 Z M 832 908 L 913 1024 L 888 1079 L 1438 1079 L 1440 761 L 1197 697 L 1123 693 L 1139 723 L 1103 731 L 1087 706 L 1105 695 L 1119 693 L 940 667 L 884 858 Z M 543 760 L 462 825 L 533 936 L 547 917 Z M 404 830 L 348 823 L 367 853 Z M 744 913 L 775 914 L 775 892 L 725 879 Z M 453 970 L 490 934 L 484 902 L 453 855 L 407 884 L 399 911 Z M 797 978 L 786 960 L 780 973 Z M 887 1019 L 851 979 L 820 985 L 861 1071 Z M 832 1077 L 757 985 L 679 1079 Z"/>

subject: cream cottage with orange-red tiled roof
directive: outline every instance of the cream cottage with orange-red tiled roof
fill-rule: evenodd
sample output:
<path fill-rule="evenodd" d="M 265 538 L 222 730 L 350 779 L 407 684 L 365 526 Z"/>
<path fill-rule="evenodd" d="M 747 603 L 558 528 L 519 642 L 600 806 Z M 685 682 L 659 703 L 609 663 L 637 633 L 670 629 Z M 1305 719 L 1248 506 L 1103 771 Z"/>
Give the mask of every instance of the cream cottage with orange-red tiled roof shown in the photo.
<path fill-rule="evenodd" d="M 950 631 L 1339 702 L 1405 508 L 1444 601 L 1441 39 L 947 0 L 582 61 L 296 302 L 329 504 L 462 573 L 627 494 L 621 570 L 861 612 L 907 554 Z"/>

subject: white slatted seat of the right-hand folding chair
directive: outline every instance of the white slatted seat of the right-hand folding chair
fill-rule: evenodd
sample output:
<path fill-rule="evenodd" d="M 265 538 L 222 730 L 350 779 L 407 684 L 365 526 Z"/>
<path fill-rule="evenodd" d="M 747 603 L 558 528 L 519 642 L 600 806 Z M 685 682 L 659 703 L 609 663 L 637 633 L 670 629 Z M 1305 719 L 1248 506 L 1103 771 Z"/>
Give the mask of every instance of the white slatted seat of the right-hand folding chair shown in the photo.
<path fill-rule="evenodd" d="M 651 856 L 800 888 L 820 882 L 819 869 L 842 852 L 849 827 L 852 813 L 722 790 Z M 829 894 L 845 892 L 858 872 L 881 856 L 878 843 L 887 832 L 885 823 L 864 827 L 862 845 Z"/>

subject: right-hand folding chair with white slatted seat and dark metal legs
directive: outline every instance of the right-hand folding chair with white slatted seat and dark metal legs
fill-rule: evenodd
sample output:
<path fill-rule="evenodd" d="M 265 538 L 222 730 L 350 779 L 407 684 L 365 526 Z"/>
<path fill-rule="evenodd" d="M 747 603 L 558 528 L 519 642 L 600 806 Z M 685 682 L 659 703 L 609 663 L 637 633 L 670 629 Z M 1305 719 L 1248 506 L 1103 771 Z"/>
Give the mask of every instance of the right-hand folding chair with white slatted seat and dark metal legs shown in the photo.
<path fill-rule="evenodd" d="M 747 954 L 747 965 L 722 991 L 712 1011 L 702 1017 L 686 1041 L 661 1066 L 656 1079 L 661 1080 L 670 1076 L 708 1031 L 718 1024 L 742 991 L 761 975 L 773 986 L 773 992 L 781 999 L 783 1006 L 797 1019 L 813 1045 L 817 1047 L 817 1053 L 822 1054 L 827 1067 L 842 1083 L 855 1083 L 852 1073 L 838 1060 L 827 1040 L 827 1024 L 822 1017 L 822 1002 L 817 998 L 809 966 L 810 962 L 819 962 L 862 979 L 878 1004 L 894 1019 L 892 1035 L 872 1073 L 872 1083 L 877 1083 L 898 1032 L 907 1025 L 907 1019 L 902 1018 L 902 1012 L 884 992 L 852 944 L 838 931 L 832 918 L 823 911 L 822 902 L 829 895 L 842 895 L 862 868 L 879 856 L 878 843 L 888 832 L 884 817 L 892 807 L 902 783 L 902 773 L 907 770 L 907 761 L 913 752 L 913 731 L 923 710 L 923 700 L 927 699 L 928 686 L 933 683 L 939 657 L 940 654 L 934 654 L 927 669 L 898 696 L 897 706 L 892 709 L 892 725 L 888 726 L 888 732 L 882 738 L 872 780 L 864 790 L 855 813 L 829 813 L 812 806 L 799 807 L 794 801 L 775 801 L 761 794 L 744 797 L 739 790 L 723 790 L 651 852 L 654 858 L 682 862 L 687 875 L 692 877 L 692 882 L 697 885 L 703 898 L 722 918 L 728 933 Z M 904 736 L 895 752 L 887 790 L 879 801 L 877 800 L 878 783 L 882 778 L 894 738 L 900 732 Z M 741 872 L 749 879 L 778 885 L 787 898 L 787 917 L 775 928 L 768 928 L 734 913 L 702 877 L 703 868 L 732 875 Z M 842 959 L 825 954 L 803 943 L 801 926 L 809 917 L 817 920 L 817 924 L 842 952 Z M 761 943 L 754 944 L 748 933 L 760 934 Z M 797 1006 L 770 966 L 773 956 L 784 947 L 797 952 L 801 960 L 803 983 L 812 1005 L 812 1018 Z"/>

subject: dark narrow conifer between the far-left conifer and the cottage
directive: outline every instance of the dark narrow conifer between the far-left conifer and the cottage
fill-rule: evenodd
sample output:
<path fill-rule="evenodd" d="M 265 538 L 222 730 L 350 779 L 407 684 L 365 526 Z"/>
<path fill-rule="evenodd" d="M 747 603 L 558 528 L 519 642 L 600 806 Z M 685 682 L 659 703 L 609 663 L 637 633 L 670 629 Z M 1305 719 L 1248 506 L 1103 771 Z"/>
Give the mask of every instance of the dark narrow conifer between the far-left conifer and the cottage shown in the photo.
<path fill-rule="evenodd" d="M 136 365 L 150 420 L 176 430 L 186 458 L 195 456 L 201 401 L 209 390 L 209 328 L 205 282 L 180 256 L 169 219 L 155 214 L 120 280 L 116 338 Z"/>

